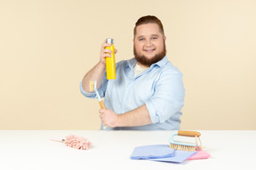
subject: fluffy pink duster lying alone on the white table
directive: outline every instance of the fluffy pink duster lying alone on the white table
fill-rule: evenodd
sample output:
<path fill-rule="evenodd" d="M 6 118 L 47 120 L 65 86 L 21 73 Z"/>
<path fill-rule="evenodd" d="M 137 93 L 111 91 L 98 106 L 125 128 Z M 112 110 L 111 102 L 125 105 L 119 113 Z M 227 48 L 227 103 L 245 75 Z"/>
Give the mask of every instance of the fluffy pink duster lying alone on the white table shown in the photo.
<path fill-rule="evenodd" d="M 77 135 L 68 135 L 66 139 L 62 140 L 56 140 L 56 139 L 51 139 L 52 141 L 57 141 L 57 142 L 64 142 L 66 146 L 69 146 L 71 148 L 76 148 L 78 150 L 90 150 L 91 147 L 90 145 L 92 144 L 90 141 L 85 139 L 84 137 L 80 137 Z"/>

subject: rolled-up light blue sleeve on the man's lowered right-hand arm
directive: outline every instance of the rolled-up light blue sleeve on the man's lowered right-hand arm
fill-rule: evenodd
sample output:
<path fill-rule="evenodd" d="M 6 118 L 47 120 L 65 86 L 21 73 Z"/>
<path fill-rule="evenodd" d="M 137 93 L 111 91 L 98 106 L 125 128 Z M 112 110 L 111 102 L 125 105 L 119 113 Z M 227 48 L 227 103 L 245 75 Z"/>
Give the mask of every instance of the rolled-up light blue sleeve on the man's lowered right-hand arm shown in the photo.
<path fill-rule="evenodd" d="M 155 83 L 155 93 L 146 102 L 152 123 L 163 123 L 180 114 L 184 105 L 185 89 L 182 73 L 164 70 Z"/>

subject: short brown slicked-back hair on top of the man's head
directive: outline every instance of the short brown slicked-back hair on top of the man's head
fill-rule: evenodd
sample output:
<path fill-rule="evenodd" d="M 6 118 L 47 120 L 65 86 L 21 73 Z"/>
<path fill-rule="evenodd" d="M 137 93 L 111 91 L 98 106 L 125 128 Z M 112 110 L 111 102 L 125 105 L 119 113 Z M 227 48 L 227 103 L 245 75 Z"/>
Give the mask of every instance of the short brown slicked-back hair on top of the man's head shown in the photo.
<path fill-rule="evenodd" d="M 135 23 L 135 27 L 133 29 L 133 36 L 135 37 L 137 31 L 136 28 L 142 24 L 149 24 L 149 23 L 155 23 L 160 29 L 160 32 L 164 35 L 164 27 L 160 19 L 157 19 L 156 16 L 153 15 L 147 15 L 144 17 L 141 17 L 140 19 L 137 20 Z"/>

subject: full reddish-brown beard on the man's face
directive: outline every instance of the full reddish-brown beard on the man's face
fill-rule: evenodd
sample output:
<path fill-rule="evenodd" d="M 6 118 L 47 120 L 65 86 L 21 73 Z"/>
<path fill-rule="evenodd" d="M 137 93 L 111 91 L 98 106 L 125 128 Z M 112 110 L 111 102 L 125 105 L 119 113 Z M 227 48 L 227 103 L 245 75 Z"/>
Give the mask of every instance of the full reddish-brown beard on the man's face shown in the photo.
<path fill-rule="evenodd" d="M 137 62 L 139 62 L 143 66 L 149 67 L 152 64 L 157 63 L 158 61 L 164 58 L 164 56 L 166 55 L 165 43 L 164 49 L 158 52 L 153 58 L 146 58 L 144 55 L 139 55 L 137 50 L 135 49 L 135 45 L 133 45 L 133 54 Z"/>

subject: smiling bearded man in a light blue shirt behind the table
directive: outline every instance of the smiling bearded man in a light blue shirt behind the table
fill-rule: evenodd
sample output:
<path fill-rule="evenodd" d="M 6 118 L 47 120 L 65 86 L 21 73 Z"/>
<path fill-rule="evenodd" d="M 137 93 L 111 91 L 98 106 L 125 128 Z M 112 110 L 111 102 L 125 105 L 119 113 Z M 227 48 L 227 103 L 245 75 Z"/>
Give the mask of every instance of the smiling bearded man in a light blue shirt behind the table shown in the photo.
<path fill-rule="evenodd" d="M 138 19 L 133 29 L 134 57 L 116 63 L 116 79 L 107 80 L 105 58 L 111 57 L 106 41 L 100 61 L 84 75 L 80 89 L 84 97 L 90 81 L 97 81 L 107 109 L 100 109 L 101 128 L 107 130 L 180 129 L 185 89 L 182 73 L 166 56 L 164 27 L 156 16 Z M 117 52 L 117 50 L 115 51 Z"/>

